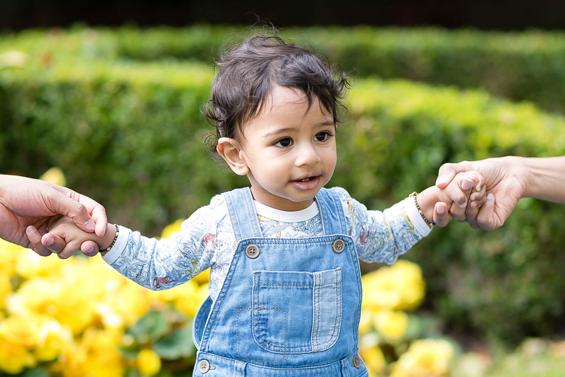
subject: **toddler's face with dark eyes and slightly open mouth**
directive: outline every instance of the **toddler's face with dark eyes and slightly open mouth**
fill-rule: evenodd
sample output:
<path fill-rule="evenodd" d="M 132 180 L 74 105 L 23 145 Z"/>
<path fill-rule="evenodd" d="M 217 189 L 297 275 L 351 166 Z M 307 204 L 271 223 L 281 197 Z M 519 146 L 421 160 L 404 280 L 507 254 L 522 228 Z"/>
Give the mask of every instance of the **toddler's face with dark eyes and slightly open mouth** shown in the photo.
<path fill-rule="evenodd" d="M 300 89 L 276 86 L 243 127 L 241 157 L 255 200 L 280 210 L 305 209 L 336 167 L 333 116 L 317 97 L 308 109 Z"/>

